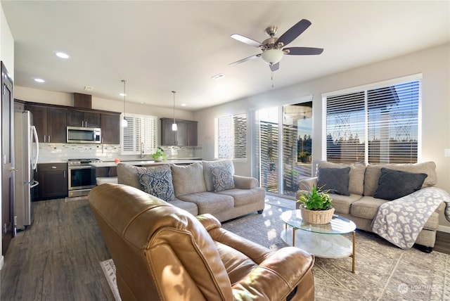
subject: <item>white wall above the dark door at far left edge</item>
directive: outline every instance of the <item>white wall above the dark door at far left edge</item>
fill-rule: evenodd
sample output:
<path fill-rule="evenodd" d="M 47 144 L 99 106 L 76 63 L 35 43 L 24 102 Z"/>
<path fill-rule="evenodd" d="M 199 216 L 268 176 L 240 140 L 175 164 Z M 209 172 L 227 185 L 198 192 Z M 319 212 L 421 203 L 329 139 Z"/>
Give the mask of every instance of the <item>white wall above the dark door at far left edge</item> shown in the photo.
<path fill-rule="evenodd" d="M 9 30 L 8 22 L 6 21 L 3 7 L 0 6 L 0 60 L 3 61 L 9 75 L 14 79 L 14 39 Z M 1 110 L 1 107 L 0 107 Z M 0 132 L 1 132 L 1 122 L 0 122 Z M 3 174 L 0 165 L 0 172 Z M 0 196 L 1 196 L 1 185 L 0 185 Z M 0 217 L 1 217 L 1 207 L 0 207 Z M 3 221 L 2 223 L 3 224 Z M 2 245 L 0 244 L 0 254 L 2 253 Z M 3 267 L 4 257 L 1 255 L 0 259 L 0 269 Z"/>

